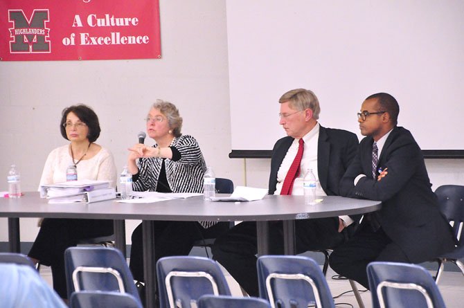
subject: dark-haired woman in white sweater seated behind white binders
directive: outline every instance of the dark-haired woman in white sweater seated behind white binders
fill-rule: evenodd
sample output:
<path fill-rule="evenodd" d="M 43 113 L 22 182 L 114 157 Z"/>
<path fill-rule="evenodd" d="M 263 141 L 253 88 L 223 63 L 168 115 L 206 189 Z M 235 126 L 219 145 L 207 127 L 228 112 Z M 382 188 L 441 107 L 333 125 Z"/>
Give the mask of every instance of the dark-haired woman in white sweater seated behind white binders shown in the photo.
<path fill-rule="evenodd" d="M 66 181 L 66 169 L 75 165 L 78 179 L 111 181 L 116 187 L 116 165 L 111 153 L 96 144 L 100 136 L 98 116 L 86 105 L 73 105 L 62 111 L 63 138 L 71 141 L 48 154 L 40 185 Z M 80 239 L 111 235 L 113 221 L 105 219 L 44 219 L 29 251 L 35 262 L 51 266 L 53 289 L 67 298 L 64 251 Z"/>

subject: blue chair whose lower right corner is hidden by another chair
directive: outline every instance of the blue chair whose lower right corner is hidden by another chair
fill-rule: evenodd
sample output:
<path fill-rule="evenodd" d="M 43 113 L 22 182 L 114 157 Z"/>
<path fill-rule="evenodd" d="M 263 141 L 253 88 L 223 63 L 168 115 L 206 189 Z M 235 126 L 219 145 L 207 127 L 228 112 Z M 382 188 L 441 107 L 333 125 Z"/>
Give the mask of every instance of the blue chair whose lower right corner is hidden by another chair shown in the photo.
<path fill-rule="evenodd" d="M 157 280 L 161 308 L 195 307 L 205 294 L 231 295 L 220 266 L 207 257 L 162 257 Z"/>

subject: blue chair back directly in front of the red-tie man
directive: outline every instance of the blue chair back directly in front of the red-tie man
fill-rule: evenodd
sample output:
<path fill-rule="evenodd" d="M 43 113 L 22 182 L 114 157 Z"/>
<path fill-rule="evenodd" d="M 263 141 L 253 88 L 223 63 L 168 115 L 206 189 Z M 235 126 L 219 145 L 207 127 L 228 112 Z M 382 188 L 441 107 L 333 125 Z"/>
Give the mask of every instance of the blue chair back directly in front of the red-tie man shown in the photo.
<path fill-rule="evenodd" d="M 335 307 L 325 276 L 310 257 L 259 257 L 258 284 L 260 298 L 269 300 L 272 308 Z"/>

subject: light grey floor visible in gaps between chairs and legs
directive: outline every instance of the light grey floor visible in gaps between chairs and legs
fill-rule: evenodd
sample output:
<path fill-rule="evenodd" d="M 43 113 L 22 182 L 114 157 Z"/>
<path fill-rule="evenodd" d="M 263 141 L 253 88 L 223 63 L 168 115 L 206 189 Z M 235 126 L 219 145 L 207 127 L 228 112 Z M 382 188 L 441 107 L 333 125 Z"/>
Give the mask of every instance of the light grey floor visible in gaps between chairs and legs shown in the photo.
<path fill-rule="evenodd" d="M 51 285 L 51 271 L 47 266 L 41 266 L 40 275 Z M 229 273 L 226 273 L 226 279 L 229 282 L 231 287 L 231 292 L 234 296 L 242 296 L 242 291 L 238 286 L 237 282 L 231 278 Z M 344 307 L 359 307 L 353 292 L 350 292 L 350 283 L 348 280 L 334 280 L 332 275 L 335 275 L 334 271 L 331 269 L 328 270 L 327 278 L 330 291 L 332 296 L 339 296 L 341 293 L 349 291 L 348 293 L 335 299 L 335 304 L 337 308 Z M 358 285 L 359 289 L 362 290 L 363 287 Z M 460 272 L 456 271 L 445 271 L 440 282 L 438 284 L 440 292 L 445 300 L 447 308 L 458 308 L 464 307 L 464 276 Z M 362 292 L 362 298 L 366 308 L 372 308 L 371 303 L 371 293 L 369 291 Z M 411 307 L 416 308 L 416 307 Z"/>

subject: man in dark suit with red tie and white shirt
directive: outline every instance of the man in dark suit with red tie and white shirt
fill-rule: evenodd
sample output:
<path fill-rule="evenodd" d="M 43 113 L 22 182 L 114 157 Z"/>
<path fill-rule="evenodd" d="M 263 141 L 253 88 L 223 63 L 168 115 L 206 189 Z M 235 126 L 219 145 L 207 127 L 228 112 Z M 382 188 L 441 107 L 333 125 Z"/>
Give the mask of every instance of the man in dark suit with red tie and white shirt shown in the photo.
<path fill-rule="evenodd" d="M 341 176 L 355 156 L 357 136 L 319 125 L 319 101 L 312 91 L 288 91 L 279 102 L 280 125 L 288 136 L 274 145 L 269 194 L 303 194 L 303 177 L 308 169 L 314 171 L 321 183 L 316 195 L 339 194 Z M 298 159 L 295 164 L 298 172 L 292 176 L 292 185 L 285 185 L 300 150 L 301 160 Z M 296 252 L 333 248 L 346 242 L 357 220 L 359 217 L 348 216 L 296 220 Z M 269 233 L 270 253 L 283 254 L 283 223 L 271 222 Z M 256 223 L 244 221 L 217 238 L 213 246 L 215 260 L 231 273 L 250 296 L 258 296 L 256 243 Z"/>

